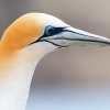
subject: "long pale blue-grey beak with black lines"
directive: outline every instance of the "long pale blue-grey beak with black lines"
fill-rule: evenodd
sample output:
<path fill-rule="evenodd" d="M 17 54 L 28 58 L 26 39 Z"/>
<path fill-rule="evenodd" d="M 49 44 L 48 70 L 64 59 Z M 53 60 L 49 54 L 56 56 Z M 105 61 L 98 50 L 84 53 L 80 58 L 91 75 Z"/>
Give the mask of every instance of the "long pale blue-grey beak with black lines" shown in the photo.
<path fill-rule="evenodd" d="M 61 33 L 54 36 L 46 37 L 46 42 L 53 43 L 59 47 L 74 45 L 96 45 L 109 46 L 110 40 L 103 36 L 95 35 L 72 26 L 64 28 Z"/>

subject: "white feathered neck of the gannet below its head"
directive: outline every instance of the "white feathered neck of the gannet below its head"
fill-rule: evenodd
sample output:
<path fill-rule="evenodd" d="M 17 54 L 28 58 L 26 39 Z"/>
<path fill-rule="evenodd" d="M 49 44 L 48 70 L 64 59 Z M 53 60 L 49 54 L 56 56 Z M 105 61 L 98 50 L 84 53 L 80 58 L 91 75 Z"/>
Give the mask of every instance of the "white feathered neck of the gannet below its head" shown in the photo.
<path fill-rule="evenodd" d="M 48 46 L 45 44 L 42 47 L 41 44 L 36 47 L 29 46 L 20 51 L 10 65 L 1 65 L 0 110 L 25 110 L 35 66 L 47 53 Z M 53 48 L 55 47 L 52 46 L 48 52 Z"/>

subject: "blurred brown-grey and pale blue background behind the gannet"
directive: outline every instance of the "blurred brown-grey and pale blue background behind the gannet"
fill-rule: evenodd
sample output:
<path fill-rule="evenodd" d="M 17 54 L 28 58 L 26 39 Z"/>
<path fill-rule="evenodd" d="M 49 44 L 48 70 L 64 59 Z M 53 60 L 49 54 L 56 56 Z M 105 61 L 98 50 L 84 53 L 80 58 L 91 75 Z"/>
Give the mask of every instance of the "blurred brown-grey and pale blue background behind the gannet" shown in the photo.
<path fill-rule="evenodd" d="M 29 12 L 110 38 L 110 0 L 0 0 L 0 36 Z M 110 110 L 110 47 L 75 46 L 42 58 L 26 110 Z"/>

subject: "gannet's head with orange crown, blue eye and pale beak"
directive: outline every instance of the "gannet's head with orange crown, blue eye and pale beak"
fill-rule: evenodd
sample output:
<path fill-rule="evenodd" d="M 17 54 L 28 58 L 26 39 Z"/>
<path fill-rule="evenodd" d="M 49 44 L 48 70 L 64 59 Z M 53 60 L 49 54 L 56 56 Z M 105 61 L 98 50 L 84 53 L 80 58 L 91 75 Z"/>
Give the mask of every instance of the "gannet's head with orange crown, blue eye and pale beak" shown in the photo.
<path fill-rule="evenodd" d="M 46 52 L 74 45 L 110 45 L 110 40 L 77 30 L 62 20 L 44 14 L 28 13 L 4 32 L 1 43 L 8 51 L 41 47 Z"/>

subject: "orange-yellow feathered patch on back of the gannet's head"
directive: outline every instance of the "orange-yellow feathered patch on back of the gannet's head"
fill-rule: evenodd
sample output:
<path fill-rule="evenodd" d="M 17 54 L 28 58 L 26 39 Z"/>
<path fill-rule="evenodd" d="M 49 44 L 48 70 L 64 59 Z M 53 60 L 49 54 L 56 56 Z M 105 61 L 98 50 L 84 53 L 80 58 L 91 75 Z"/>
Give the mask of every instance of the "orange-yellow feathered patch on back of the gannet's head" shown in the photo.
<path fill-rule="evenodd" d="M 1 46 L 16 51 L 30 45 L 44 33 L 46 22 L 40 13 L 28 13 L 13 22 L 1 38 Z"/>

